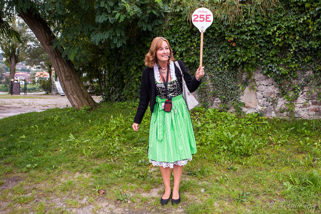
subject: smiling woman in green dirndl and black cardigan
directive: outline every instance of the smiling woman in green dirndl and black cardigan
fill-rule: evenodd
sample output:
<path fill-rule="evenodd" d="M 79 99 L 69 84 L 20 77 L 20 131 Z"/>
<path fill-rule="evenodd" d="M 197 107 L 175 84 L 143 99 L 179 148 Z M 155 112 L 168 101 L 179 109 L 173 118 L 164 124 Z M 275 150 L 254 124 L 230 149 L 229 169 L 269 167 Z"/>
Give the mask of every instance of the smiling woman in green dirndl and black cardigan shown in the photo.
<path fill-rule="evenodd" d="M 180 69 L 174 63 L 173 51 L 166 39 L 156 37 L 145 55 L 147 66 L 141 77 L 140 102 L 134 118 L 133 129 L 139 124 L 150 103 L 152 112 L 149 133 L 148 158 L 153 166 L 161 167 L 165 192 L 161 204 L 167 204 L 172 195 L 172 204 L 179 204 L 179 187 L 183 166 L 192 160 L 196 153 L 196 142 L 191 118 L 181 95 L 182 75 L 190 92 L 201 84 L 204 67 L 199 67 L 192 78 L 181 61 Z M 167 101 L 165 104 L 165 101 Z M 169 112 L 167 107 L 172 105 Z M 165 106 L 166 105 L 166 106 Z M 174 187 L 170 187 L 170 175 L 173 169 Z"/>

